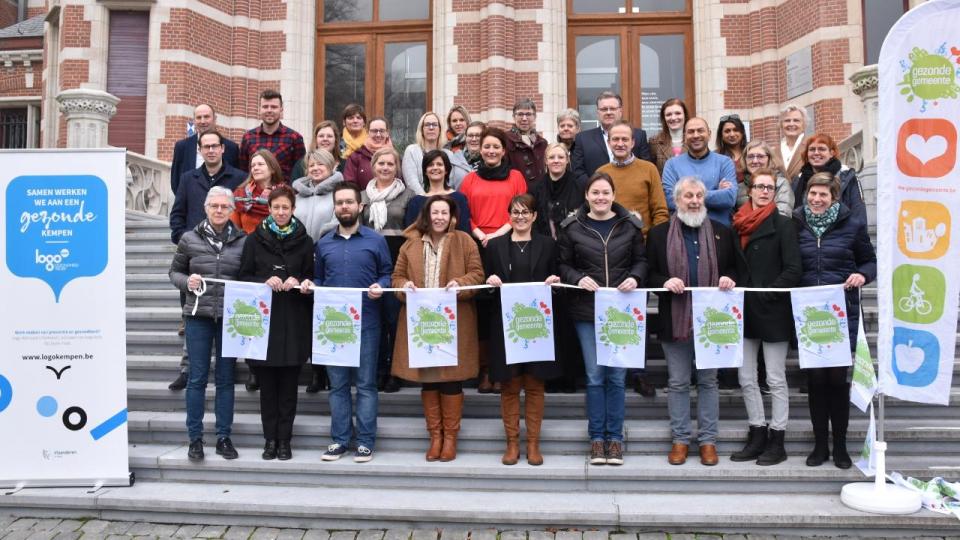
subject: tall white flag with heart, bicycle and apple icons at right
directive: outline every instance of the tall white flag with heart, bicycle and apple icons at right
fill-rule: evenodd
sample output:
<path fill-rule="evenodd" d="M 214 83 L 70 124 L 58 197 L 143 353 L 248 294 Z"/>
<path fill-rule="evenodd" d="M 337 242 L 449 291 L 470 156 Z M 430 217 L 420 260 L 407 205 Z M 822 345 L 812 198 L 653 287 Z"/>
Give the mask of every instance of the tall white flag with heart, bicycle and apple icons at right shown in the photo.
<path fill-rule="evenodd" d="M 947 405 L 960 279 L 960 1 L 908 11 L 880 51 L 877 257 L 880 391 Z"/>

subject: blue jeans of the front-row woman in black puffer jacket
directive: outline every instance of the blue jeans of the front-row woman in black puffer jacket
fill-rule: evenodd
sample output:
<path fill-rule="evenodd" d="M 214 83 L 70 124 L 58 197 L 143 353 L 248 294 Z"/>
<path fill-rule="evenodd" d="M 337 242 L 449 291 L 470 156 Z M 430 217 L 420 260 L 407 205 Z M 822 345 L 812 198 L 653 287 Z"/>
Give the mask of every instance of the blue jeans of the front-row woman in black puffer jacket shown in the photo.
<path fill-rule="evenodd" d="M 597 365 L 593 321 L 574 321 L 587 372 L 587 432 L 590 441 L 623 442 L 626 368 Z"/>

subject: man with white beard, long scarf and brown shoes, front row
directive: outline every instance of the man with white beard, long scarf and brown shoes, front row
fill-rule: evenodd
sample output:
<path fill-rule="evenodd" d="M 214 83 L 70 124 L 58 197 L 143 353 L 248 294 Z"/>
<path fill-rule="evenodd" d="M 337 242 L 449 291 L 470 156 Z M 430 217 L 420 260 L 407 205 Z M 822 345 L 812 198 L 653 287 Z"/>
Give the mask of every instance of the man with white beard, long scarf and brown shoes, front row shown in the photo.
<path fill-rule="evenodd" d="M 649 287 L 657 293 L 659 317 L 651 332 L 657 334 L 667 359 L 667 409 L 673 447 L 667 460 L 682 465 L 691 439 L 690 375 L 695 367 L 692 299 L 686 287 L 719 287 L 730 290 L 746 264 L 737 236 L 725 225 L 707 219 L 706 187 L 686 176 L 674 185 L 676 213 L 670 221 L 650 229 L 647 236 Z M 717 370 L 697 370 L 697 443 L 700 463 L 717 464 L 717 422 L 720 416 Z"/>

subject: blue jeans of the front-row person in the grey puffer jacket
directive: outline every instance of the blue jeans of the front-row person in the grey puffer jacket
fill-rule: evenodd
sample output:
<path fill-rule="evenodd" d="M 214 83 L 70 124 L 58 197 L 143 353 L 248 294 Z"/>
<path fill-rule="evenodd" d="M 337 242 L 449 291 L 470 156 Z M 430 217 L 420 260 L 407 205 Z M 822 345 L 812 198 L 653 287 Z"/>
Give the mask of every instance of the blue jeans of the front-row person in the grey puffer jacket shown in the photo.
<path fill-rule="evenodd" d="M 220 343 L 223 321 L 207 317 L 187 317 L 184 330 L 187 356 L 190 358 L 187 376 L 187 434 L 190 440 L 203 436 L 203 411 L 207 390 L 207 375 L 210 372 L 210 351 L 217 347 L 217 364 L 214 381 L 217 386 L 213 412 L 217 417 L 217 438 L 229 437 L 233 426 L 233 366 L 236 358 L 221 356 Z"/>

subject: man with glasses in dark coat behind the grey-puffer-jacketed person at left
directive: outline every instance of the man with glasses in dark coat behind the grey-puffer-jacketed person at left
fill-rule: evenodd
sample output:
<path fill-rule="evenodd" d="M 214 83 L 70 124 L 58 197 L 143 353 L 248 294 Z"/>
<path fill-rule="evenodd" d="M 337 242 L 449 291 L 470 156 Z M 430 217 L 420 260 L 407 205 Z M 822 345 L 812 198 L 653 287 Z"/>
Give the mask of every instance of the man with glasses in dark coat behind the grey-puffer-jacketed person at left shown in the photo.
<path fill-rule="evenodd" d="M 193 230 L 198 223 L 206 219 L 207 213 L 203 203 L 207 200 L 207 192 L 213 186 L 221 186 L 233 192 L 243 181 L 246 175 L 239 169 L 231 167 L 223 160 L 227 139 L 216 129 L 209 129 L 197 137 L 197 152 L 203 156 L 203 164 L 180 178 L 177 185 L 177 195 L 170 210 L 170 239 L 174 244 L 180 243 L 183 233 Z M 180 305 L 186 302 L 186 295 L 180 293 Z M 182 334 L 181 334 L 182 335 Z M 186 349 L 180 359 L 180 374 L 170 383 L 170 390 L 183 390 L 187 386 Z"/>

